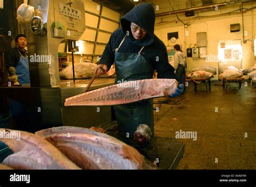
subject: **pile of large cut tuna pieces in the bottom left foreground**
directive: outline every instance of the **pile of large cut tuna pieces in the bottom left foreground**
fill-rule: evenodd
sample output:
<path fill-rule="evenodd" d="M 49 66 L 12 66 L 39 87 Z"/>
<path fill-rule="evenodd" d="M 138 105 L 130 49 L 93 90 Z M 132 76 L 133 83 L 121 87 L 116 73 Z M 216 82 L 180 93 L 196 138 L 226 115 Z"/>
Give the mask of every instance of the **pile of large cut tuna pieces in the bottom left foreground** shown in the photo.
<path fill-rule="evenodd" d="M 135 148 L 88 128 L 53 127 L 35 134 L 2 128 L 0 133 L 14 152 L 0 169 L 142 169 L 145 164 Z M 3 136 L 8 133 L 20 133 L 20 140 Z"/>

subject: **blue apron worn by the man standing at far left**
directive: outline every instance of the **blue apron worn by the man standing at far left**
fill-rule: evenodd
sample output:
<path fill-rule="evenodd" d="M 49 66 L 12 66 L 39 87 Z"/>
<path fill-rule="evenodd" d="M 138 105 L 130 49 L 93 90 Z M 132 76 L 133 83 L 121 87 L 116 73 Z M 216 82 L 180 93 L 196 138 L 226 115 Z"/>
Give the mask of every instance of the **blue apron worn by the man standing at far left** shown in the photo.
<path fill-rule="evenodd" d="M 19 62 L 16 69 L 19 84 L 29 84 L 29 60 L 26 56 L 19 57 Z M 20 115 L 25 113 L 25 106 L 14 99 L 10 100 L 10 113 L 13 115 Z"/>

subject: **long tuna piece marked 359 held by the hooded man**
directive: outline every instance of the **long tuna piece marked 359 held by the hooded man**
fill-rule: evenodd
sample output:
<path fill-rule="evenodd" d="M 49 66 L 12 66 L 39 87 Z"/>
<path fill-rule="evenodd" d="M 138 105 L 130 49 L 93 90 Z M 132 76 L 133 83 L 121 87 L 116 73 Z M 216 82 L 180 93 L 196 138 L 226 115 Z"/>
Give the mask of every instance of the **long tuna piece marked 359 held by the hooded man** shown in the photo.
<path fill-rule="evenodd" d="M 176 91 L 177 84 L 176 80 L 166 78 L 128 81 L 67 98 L 65 106 L 118 105 L 170 96 Z"/>

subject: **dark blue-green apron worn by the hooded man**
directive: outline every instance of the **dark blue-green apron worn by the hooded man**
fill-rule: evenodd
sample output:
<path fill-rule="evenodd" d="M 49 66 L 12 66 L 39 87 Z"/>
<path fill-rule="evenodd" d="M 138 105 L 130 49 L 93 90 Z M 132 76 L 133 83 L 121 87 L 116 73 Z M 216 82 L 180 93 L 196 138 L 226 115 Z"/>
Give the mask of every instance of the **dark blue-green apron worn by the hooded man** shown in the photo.
<path fill-rule="evenodd" d="M 116 48 L 114 64 L 116 66 L 116 83 L 123 81 L 135 81 L 153 77 L 153 67 L 142 54 L 144 48 L 138 53 L 119 53 L 118 49 L 125 40 L 122 40 Z M 114 106 L 119 134 L 132 137 L 140 124 L 146 124 L 154 131 L 153 100 L 146 99 L 139 102 Z"/>

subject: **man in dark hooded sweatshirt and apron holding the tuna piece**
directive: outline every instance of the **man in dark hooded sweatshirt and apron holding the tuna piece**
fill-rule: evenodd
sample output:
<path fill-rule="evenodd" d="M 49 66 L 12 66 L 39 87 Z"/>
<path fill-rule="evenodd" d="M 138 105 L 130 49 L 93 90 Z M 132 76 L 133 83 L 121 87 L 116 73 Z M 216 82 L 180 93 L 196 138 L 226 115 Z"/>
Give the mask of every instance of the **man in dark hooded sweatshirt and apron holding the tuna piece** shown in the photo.
<path fill-rule="evenodd" d="M 103 75 L 114 63 L 116 83 L 142 80 L 153 77 L 176 78 L 174 68 L 169 64 L 164 43 L 154 35 L 154 8 L 149 3 L 135 6 L 121 18 L 121 28 L 110 37 L 103 55 L 96 67 L 97 76 Z M 181 95 L 184 84 L 179 85 L 176 93 Z M 146 99 L 136 103 L 114 106 L 119 134 L 133 135 L 140 124 L 150 127 L 153 135 L 153 100 Z"/>

